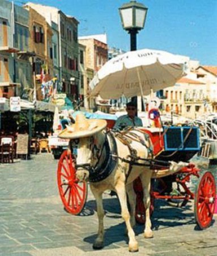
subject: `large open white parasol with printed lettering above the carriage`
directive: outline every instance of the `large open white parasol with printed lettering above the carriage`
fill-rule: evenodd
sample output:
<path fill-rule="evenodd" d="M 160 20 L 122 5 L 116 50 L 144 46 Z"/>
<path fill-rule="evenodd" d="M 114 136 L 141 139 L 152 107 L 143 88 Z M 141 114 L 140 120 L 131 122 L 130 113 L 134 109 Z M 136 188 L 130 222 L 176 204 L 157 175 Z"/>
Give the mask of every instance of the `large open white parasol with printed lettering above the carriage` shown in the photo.
<path fill-rule="evenodd" d="M 120 98 L 144 96 L 173 86 L 186 75 L 183 57 L 165 51 L 142 49 L 109 60 L 93 77 L 90 96 Z"/>

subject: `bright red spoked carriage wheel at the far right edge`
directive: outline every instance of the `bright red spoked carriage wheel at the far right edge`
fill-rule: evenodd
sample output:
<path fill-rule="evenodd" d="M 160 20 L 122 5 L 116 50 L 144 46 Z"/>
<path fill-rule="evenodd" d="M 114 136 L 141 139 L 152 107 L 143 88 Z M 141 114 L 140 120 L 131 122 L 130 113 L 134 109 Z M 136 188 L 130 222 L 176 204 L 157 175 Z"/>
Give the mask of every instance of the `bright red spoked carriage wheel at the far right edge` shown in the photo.
<path fill-rule="evenodd" d="M 216 184 L 211 172 L 205 172 L 195 191 L 194 217 L 200 229 L 206 229 L 212 222 L 215 208 Z"/>

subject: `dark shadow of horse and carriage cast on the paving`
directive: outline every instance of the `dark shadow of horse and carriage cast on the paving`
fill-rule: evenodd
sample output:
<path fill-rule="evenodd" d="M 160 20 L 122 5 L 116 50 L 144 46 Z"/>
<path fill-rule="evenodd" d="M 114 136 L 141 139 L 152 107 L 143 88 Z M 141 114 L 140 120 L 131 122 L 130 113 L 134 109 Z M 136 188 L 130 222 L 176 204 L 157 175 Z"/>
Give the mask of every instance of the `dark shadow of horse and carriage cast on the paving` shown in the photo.
<path fill-rule="evenodd" d="M 121 218 L 121 208 L 117 197 L 103 200 L 105 216 L 109 219 Z M 88 201 L 86 207 L 96 211 L 95 200 Z M 171 207 L 167 204 L 167 201 L 156 200 L 155 210 L 151 217 L 152 229 L 168 229 L 171 227 L 195 224 L 194 213 L 192 207 L 187 204 L 184 208 Z M 106 221 L 105 221 L 106 222 Z M 196 228 L 195 228 L 196 229 Z M 137 224 L 134 227 L 136 236 L 144 232 L 144 225 Z M 97 237 L 97 234 L 84 238 L 85 242 L 93 243 Z M 104 246 L 109 246 L 112 243 L 125 242 L 127 245 L 128 237 L 125 235 L 125 223 L 110 226 L 105 229 Z"/>

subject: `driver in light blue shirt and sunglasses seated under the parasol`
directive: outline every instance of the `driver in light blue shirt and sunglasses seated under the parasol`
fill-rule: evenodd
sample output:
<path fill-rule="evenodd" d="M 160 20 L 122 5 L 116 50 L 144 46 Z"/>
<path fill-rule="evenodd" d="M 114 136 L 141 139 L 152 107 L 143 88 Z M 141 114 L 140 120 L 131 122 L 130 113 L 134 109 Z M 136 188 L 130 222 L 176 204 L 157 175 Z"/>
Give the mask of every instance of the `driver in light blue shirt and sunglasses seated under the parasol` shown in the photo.
<path fill-rule="evenodd" d="M 122 130 L 130 126 L 142 126 L 142 120 L 136 116 L 137 106 L 130 101 L 126 104 L 127 115 L 121 115 L 113 127 L 114 130 Z"/>

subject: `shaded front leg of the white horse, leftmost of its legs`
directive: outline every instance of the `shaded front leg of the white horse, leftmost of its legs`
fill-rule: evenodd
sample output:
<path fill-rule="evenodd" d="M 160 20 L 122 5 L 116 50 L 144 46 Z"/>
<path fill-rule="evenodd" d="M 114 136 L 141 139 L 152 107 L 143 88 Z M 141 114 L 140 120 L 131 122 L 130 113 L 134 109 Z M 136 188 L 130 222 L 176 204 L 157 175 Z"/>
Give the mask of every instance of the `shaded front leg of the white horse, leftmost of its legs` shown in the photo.
<path fill-rule="evenodd" d="M 99 228 L 97 238 L 93 243 L 93 249 L 99 250 L 103 248 L 103 241 L 104 241 L 104 225 L 103 225 L 103 218 L 104 218 L 104 210 L 103 210 L 103 192 L 97 191 L 93 186 L 91 186 L 91 191 L 93 196 L 96 199 L 96 209 L 97 209 L 97 216 L 99 221 Z"/>

